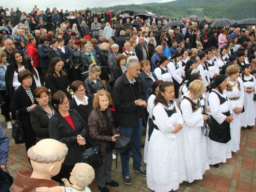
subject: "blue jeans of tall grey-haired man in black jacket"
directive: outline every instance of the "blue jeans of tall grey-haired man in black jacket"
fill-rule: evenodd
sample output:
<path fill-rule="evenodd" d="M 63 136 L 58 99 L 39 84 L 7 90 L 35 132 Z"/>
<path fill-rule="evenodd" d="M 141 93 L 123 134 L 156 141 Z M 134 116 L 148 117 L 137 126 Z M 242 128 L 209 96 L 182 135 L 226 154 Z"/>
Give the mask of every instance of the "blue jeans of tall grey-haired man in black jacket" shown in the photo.
<path fill-rule="evenodd" d="M 133 139 L 132 153 L 133 153 L 133 169 L 139 169 L 142 167 L 142 155 L 141 155 L 141 132 L 142 132 L 142 119 L 140 119 L 140 125 L 138 127 L 122 127 L 119 126 L 120 135 L 130 137 Z M 129 154 L 121 154 L 121 164 L 122 164 L 122 175 L 129 176 Z"/>

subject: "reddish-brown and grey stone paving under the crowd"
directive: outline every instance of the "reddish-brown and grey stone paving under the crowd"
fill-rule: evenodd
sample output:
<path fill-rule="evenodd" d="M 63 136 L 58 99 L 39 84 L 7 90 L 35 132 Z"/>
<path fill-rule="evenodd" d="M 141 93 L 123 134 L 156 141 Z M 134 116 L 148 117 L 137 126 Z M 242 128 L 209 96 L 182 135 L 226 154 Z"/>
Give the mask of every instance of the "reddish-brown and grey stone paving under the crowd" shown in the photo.
<path fill-rule="evenodd" d="M 0 123 L 9 137 L 10 152 L 7 167 L 11 175 L 16 177 L 19 169 L 32 170 L 28 162 L 24 144 L 16 145 L 11 136 L 11 130 L 6 128 L 4 117 L 0 117 Z M 143 141 L 145 136 L 143 135 Z M 142 148 L 143 154 L 143 148 Z M 197 184 L 183 182 L 176 191 L 221 191 L 221 192 L 244 192 L 256 191 L 256 126 L 251 130 L 241 129 L 240 151 L 232 153 L 232 158 L 227 159 L 227 163 L 220 163 L 219 168 L 210 166 L 210 169 L 203 176 L 203 180 L 198 180 Z M 142 162 L 142 166 L 146 168 L 146 164 Z M 146 177 L 135 173 L 133 170 L 132 158 L 130 161 L 130 176 L 132 178 L 131 185 L 125 185 L 122 181 L 121 162 L 118 156 L 117 167 L 115 160 L 112 165 L 112 179 L 119 183 L 119 187 L 110 187 L 110 191 L 122 192 L 144 192 L 151 191 L 147 188 Z M 100 191 L 94 182 L 89 186 L 93 192 Z M 11 187 L 12 188 L 12 187 Z"/>

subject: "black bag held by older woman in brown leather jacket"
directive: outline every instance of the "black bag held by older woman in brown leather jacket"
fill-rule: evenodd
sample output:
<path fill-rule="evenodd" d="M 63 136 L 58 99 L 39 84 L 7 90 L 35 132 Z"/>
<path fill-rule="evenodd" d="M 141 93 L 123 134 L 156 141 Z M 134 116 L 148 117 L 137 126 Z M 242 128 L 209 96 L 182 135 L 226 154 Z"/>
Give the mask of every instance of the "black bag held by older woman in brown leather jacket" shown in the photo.
<path fill-rule="evenodd" d="M 130 154 L 133 139 L 126 136 L 116 137 L 115 151 L 120 154 Z"/>

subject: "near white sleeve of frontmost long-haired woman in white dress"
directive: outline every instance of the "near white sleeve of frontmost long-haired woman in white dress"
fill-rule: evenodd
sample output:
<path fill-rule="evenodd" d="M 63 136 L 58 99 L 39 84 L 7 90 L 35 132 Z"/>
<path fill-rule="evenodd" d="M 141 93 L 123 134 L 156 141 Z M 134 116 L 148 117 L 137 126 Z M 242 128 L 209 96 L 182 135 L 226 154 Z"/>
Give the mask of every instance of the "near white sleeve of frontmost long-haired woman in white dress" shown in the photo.
<path fill-rule="evenodd" d="M 154 107 L 153 115 L 155 117 L 155 120 L 153 120 L 153 122 L 155 123 L 155 125 L 157 125 L 159 131 L 161 131 L 164 134 L 168 133 L 169 138 L 175 139 L 176 134 L 172 133 L 174 131 L 174 126 L 170 122 L 170 119 L 169 119 L 167 113 L 165 112 L 162 104 L 158 103 Z"/>

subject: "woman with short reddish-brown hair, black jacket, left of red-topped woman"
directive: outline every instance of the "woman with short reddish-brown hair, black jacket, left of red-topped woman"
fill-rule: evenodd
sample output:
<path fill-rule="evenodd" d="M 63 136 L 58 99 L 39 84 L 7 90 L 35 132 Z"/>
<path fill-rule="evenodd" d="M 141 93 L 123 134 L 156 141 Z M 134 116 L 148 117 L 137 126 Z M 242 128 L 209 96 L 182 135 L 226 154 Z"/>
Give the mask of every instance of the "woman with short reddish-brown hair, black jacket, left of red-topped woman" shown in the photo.
<path fill-rule="evenodd" d="M 39 86 L 34 91 L 37 105 L 30 112 L 32 128 L 36 134 L 36 142 L 50 138 L 49 119 L 55 113 L 54 107 L 49 103 L 50 92 L 46 87 Z"/>

